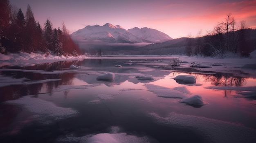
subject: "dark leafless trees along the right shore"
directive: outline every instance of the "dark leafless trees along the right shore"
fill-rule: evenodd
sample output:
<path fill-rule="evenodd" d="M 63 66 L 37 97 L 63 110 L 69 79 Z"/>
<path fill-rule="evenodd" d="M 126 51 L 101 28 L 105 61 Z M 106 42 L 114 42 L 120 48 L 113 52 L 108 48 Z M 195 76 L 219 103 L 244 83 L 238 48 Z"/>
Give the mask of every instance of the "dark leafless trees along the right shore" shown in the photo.
<path fill-rule="evenodd" d="M 245 21 L 237 25 L 234 16 L 227 14 L 225 21 L 218 22 L 213 31 L 201 37 L 189 36 L 186 40 L 186 55 L 204 55 L 224 57 L 226 52 L 237 53 L 249 57 L 256 49 L 256 29 L 247 29 Z"/>

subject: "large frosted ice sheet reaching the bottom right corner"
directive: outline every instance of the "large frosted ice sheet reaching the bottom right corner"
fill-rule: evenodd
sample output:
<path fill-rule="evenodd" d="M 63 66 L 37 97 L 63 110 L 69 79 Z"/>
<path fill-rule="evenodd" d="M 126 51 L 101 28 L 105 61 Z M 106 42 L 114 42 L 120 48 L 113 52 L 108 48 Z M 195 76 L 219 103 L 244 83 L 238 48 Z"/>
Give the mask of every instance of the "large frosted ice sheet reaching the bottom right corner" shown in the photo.
<path fill-rule="evenodd" d="M 208 119 L 192 115 L 170 113 L 167 117 L 160 117 L 156 113 L 149 114 L 156 122 L 175 126 L 177 128 L 189 128 L 204 134 L 207 142 L 212 143 L 255 143 L 256 130 L 247 128 L 238 123 Z"/>

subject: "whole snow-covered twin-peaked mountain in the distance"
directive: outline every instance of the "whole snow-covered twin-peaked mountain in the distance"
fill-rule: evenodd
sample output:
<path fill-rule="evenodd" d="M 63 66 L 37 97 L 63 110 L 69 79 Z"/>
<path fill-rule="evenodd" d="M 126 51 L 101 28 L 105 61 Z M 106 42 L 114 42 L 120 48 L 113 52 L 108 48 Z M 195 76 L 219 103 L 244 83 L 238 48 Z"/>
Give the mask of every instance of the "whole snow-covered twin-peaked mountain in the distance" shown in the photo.
<path fill-rule="evenodd" d="M 74 40 L 108 43 L 153 43 L 172 40 L 168 35 L 155 29 L 135 27 L 128 31 L 119 25 L 106 23 L 103 26 L 86 26 L 71 34 Z M 142 33 L 141 33 L 142 32 Z"/>

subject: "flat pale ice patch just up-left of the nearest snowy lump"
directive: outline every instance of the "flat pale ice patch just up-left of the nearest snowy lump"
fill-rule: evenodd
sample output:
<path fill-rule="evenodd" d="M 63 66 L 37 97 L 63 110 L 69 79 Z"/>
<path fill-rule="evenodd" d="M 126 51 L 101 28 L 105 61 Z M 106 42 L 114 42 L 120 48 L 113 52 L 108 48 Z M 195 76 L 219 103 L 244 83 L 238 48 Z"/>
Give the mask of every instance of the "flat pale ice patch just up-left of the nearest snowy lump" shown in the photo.
<path fill-rule="evenodd" d="M 155 93 L 158 97 L 166 97 L 166 98 L 185 98 L 187 97 L 184 93 L 173 90 L 170 88 L 166 88 L 163 86 L 157 86 L 154 84 L 145 84 L 150 92 Z"/>

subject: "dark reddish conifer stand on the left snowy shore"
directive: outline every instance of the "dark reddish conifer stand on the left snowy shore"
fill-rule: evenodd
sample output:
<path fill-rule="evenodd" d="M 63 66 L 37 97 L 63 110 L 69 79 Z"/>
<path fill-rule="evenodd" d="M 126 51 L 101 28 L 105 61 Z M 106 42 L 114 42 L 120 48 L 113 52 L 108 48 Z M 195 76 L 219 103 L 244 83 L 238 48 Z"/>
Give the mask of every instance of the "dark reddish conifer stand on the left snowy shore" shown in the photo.
<path fill-rule="evenodd" d="M 43 52 L 64 56 L 81 54 L 64 23 L 62 29 L 53 29 L 52 23 L 47 19 L 42 29 L 29 5 L 24 15 L 21 9 L 12 7 L 9 0 L 0 0 L 0 53 L 16 52 Z"/>

